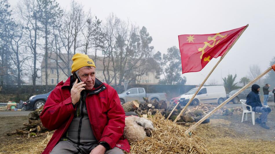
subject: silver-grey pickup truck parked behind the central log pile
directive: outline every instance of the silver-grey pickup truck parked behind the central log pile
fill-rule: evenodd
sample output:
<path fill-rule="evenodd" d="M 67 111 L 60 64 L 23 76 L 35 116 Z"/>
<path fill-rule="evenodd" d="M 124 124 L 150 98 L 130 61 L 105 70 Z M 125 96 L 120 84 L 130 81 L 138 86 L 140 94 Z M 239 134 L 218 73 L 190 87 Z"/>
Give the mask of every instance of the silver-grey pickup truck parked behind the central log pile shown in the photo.
<path fill-rule="evenodd" d="M 120 98 L 120 103 L 130 102 L 133 100 L 138 100 L 139 102 L 144 102 L 143 97 L 148 97 L 148 100 L 157 99 L 157 101 L 165 100 L 166 93 L 146 93 L 144 88 L 131 88 L 118 94 Z"/>

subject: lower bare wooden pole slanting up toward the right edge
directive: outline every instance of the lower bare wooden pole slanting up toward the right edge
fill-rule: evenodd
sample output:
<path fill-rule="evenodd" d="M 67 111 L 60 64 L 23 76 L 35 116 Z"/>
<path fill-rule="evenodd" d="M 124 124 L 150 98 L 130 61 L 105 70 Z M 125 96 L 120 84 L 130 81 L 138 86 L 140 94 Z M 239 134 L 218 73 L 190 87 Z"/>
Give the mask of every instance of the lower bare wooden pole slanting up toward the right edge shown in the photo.
<path fill-rule="evenodd" d="M 275 64 L 273 66 L 275 67 Z M 217 106 L 216 108 L 214 108 L 214 110 L 212 110 L 211 112 L 209 112 L 208 114 L 206 114 L 206 116 L 204 116 L 201 120 L 199 120 L 197 123 L 195 123 L 194 125 L 192 125 L 189 129 L 187 129 L 185 131 L 185 135 L 187 135 L 192 129 L 194 129 L 195 127 L 197 127 L 205 119 L 207 119 L 208 117 L 210 117 L 210 115 L 212 115 L 214 112 L 216 112 L 221 107 L 223 107 L 225 104 L 227 104 L 231 99 L 233 99 L 234 97 L 236 97 L 237 95 L 239 95 L 243 90 L 247 89 L 247 87 L 249 87 L 253 82 L 255 82 L 256 80 L 258 80 L 259 78 L 261 78 L 262 76 L 264 76 L 265 74 L 267 74 L 270 70 L 272 70 L 272 67 L 270 67 L 267 70 L 265 70 L 265 72 L 263 72 L 262 74 L 260 74 L 259 76 L 257 76 L 254 80 L 252 80 L 249 83 L 247 83 L 243 88 L 241 88 L 239 91 L 237 91 L 234 95 L 232 95 L 231 97 L 229 97 L 228 99 L 226 99 L 223 103 L 221 103 L 219 106 Z"/>

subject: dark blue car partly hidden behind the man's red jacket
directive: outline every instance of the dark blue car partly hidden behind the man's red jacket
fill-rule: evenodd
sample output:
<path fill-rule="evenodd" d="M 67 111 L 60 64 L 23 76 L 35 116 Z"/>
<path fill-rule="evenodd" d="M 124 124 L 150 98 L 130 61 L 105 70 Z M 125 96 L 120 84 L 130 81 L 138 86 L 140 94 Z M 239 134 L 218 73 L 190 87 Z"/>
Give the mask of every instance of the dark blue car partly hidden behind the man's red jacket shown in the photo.
<path fill-rule="evenodd" d="M 44 106 L 45 102 L 51 92 L 52 92 L 52 90 L 45 94 L 31 96 L 30 99 L 28 101 L 26 101 L 27 110 L 32 110 L 32 109 L 36 110 L 36 109 L 40 108 L 41 106 Z"/>

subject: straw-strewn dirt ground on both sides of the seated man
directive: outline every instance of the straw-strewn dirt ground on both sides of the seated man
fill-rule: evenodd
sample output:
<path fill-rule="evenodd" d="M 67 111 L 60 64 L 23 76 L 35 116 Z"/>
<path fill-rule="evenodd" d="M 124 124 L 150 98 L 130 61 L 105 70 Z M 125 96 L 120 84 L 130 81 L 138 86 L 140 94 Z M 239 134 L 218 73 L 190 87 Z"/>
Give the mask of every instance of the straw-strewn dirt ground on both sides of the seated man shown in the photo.
<path fill-rule="evenodd" d="M 251 114 L 243 123 L 241 117 L 242 112 L 232 116 L 212 115 L 210 123 L 199 125 L 194 133 L 206 142 L 208 149 L 214 154 L 274 154 L 275 111 L 270 112 L 268 116 L 267 125 L 270 129 L 263 129 L 257 123 L 252 125 Z M 7 132 L 23 127 L 23 123 L 28 122 L 28 116 L 0 116 L 0 119 L 0 154 L 25 153 L 23 151 L 32 149 L 47 136 L 46 133 L 30 139 L 17 135 L 7 136 Z"/>

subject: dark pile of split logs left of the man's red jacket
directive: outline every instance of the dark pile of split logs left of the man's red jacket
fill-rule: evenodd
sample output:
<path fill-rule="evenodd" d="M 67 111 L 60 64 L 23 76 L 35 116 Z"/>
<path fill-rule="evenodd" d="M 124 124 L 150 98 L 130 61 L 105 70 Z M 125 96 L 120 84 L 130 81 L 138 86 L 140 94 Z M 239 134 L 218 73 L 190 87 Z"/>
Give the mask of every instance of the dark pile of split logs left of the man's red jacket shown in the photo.
<path fill-rule="evenodd" d="M 39 116 L 43 110 L 43 106 L 36 109 L 34 112 L 29 113 L 29 123 L 23 123 L 24 127 L 16 129 L 14 132 L 8 132 L 7 135 L 19 134 L 21 136 L 35 137 L 39 136 L 39 133 L 47 132 L 49 129 L 43 126 Z"/>

